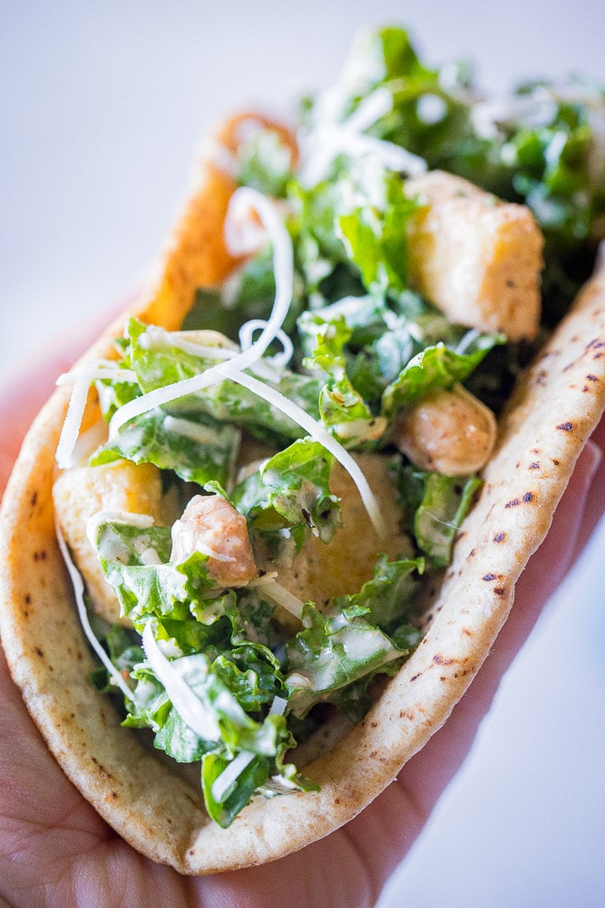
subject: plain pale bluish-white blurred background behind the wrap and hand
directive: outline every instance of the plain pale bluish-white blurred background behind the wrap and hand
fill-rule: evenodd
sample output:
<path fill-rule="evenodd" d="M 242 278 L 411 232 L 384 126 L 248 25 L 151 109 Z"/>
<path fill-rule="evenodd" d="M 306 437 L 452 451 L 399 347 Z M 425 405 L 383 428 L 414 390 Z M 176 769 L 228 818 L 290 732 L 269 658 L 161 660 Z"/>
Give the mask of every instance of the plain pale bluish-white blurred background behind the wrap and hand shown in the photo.
<path fill-rule="evenodd" d="M 333 79 L 359 26 L 391 21 L 429 61 L 471 57 L 495 92 L 571 71 L 605 83 L 602 0 L 0 0 L 0 372 L 137 286 L 222 115 L 287 110 Z M 601 525 L 380 908 L 605 903 L 604 546 Z"/>

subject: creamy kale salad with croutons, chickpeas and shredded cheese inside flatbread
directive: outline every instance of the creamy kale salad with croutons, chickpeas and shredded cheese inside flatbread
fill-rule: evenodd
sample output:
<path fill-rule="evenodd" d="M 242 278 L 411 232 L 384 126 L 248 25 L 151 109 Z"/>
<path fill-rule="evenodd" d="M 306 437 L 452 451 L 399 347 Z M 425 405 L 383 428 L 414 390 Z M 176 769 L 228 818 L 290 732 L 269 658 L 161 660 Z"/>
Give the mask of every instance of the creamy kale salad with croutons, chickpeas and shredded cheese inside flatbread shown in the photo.
<path fill-rule="evenodd" d="M 603 232 L 596 88 L 491 104 L 397 28 L 352 61 L 296 141 L 250 116 L 218 155 L 227 281 L 63 378 L 54 503 L 93 682 L 200 765 L 223 827 L 317 787 L 297 747 L 418 646 L 496 416 Z M 78 439 L 91 383 L 101 443 Z"/>

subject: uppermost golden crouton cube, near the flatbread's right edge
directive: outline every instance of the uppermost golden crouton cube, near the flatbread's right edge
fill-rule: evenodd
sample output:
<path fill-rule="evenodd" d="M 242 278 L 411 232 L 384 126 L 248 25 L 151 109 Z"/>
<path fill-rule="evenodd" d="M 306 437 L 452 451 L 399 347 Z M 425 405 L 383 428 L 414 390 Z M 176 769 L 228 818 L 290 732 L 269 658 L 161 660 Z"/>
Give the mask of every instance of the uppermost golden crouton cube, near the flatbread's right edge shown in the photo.
<path fill-rule="evenodd" d="M 533 338 L 543 239 L 532 212 L 443 171 L 408 180 L 406 192 L 425 202 L 408 228 L 415 288 L 458 324 Z"/>

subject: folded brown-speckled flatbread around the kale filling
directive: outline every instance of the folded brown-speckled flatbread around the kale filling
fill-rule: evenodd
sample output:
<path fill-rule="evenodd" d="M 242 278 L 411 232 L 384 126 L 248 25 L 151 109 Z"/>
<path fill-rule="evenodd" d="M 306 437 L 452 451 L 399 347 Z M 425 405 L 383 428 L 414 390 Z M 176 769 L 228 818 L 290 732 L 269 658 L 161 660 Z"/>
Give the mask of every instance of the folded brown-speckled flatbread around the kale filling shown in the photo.
<path fill-rule="evenodd" d="M 158 280 L 134 309 L 168 329 L 180 325 L 195 288 L 220 281 L 233 264 L 221 232 L 232 183 L 207 163 L 199 186 Z M 84 359 L 108 355 L 122 324 Z M 93 658 L 54 533 L 54 452 L 68 397 L 57 390 L 35 420 L 2 505 L 0 631 L 15 682 L 66 775 L 142 854 L 190 874 L 260 864 L 332 832 L 379 795 L 443 725 L 489 654 L 605 407 L 605 270 L 514 393 L 421 646 L 366 718 L 307 765 L 320 792 L 255 799 L 228 830 L 208 818 L 199 785 L 148 749 L 144 733 L 122 728 L 110 699 L 87 680 Z"/>

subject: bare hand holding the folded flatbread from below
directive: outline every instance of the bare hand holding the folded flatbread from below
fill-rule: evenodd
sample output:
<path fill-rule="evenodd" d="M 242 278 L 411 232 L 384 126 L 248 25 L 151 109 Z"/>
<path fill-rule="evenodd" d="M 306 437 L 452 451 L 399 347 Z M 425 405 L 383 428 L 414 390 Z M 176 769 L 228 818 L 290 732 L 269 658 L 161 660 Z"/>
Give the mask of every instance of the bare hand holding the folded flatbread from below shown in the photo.
<path fill-rule="evenodd" d="M 24 430 L 72 357 L 59 352 L 18 393 L 0 399 L 0 490 Z M 15 385 L 16 388 L 16 385 Z M 18 405 L 17 402 L 18 401 Z M 398 780 L 354 821 L 273 864 L 216 876 L 181 877 L 152 864 L 104 823 L 54 762 L 24 708 L 0 652 L 0 899 L 11 908 L 150 904 L 203 908 L 307 908 L 376 903 L 388 875 L 420 833 L 463 763 L 506 667 L 605 509 L 605 420 L 578 462 L 551 532 L 522 575 L 498 646 L 444 728 Z M 590 490 L 590 496 L 589 496 Z M 576 540 L 575 552 L 571 540 Z M 549 570 L 544 571 L 543 566 Z M 552 565 L 558 567 L 553 572 Z M 549 586 L 544 586 L 544 576 Z"/>

